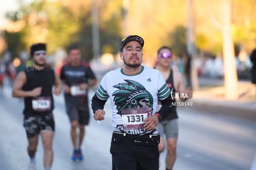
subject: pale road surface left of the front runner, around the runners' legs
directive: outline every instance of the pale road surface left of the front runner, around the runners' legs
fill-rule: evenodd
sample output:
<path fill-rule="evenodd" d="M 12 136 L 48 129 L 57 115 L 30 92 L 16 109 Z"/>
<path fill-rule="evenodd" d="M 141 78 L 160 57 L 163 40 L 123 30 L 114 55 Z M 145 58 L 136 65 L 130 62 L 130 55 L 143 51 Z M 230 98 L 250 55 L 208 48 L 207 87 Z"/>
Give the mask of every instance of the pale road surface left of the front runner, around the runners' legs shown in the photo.
<path fill-rule="evenodd" d="M 53 140 L 54 162 L 52 169 L 82 170 L 111 169 L 109 146 L 111 140 L 111 114 L 100 124 L 93 119 L 86 127 L 82 146 L 84 160 L 73 162 L 70 124 L 64 108 L 64 96 L 54 96 L 54 119 L 56 130 Z M 27 169 L 27 139 L 23 128 L 23 100 L 11 97 L 11 88 L 5 87 L 0 96 L 0 169 Z M 106 108 L 108 110 L 108 107 Z M 43 170 L 43 149 L 41 140 L 36 153 L 38 170 Z"/>

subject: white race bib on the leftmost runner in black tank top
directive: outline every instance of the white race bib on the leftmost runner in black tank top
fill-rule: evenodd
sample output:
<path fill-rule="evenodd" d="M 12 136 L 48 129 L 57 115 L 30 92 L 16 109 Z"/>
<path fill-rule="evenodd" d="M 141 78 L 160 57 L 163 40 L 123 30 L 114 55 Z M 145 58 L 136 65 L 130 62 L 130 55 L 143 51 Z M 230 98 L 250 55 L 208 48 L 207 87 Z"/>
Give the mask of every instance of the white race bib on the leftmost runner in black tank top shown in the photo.
<path fill-rule="evenodd" d="M 51 97 L 33 98 L 32 108 L 34 111 L 51 111 Z"/>

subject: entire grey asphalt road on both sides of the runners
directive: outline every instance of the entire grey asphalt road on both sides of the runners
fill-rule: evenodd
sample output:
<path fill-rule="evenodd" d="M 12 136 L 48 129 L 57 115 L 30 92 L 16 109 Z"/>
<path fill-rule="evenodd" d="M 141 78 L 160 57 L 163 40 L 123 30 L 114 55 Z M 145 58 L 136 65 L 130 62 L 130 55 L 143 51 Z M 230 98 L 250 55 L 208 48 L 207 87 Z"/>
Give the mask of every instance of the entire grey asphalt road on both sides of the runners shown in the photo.
<path fill-rule="evenodd" d="M 91 93 L 92 94 L 92 93 Z M 84 161 L 70 160 L 72 145 L 69 137 L 63 96 L 55 97 L 56 134 L 54 136 L 53 170 L 105 170 L 111 169 L 109 153 L 111 139 L 111 114 L 106 104 L 106 119 L 100 124 L 93 119 L 86 128 L 82 146 Z M 11 97 L 11 89 L 0 94 L 0 169 L 27 169 L 29 161 L 27 139 L 22 126 L 23 101 Z M 179 140 L 175 170 L 248 170 L 256 153 L 256 124 L 239 119 L 200 111 L 187 106 L 178 109 Z M 160 155 L 160 169 L 164 167 L 164 156 Z M 43 170 L 41 142 L 36 153 L 38 170 Z"/>

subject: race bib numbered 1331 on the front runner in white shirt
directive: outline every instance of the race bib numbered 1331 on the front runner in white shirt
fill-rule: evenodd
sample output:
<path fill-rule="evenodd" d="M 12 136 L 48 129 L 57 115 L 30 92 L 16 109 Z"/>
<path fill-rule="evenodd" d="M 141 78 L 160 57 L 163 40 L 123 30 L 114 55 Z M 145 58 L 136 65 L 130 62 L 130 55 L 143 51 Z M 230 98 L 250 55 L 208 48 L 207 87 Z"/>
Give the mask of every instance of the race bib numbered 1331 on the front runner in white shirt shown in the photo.
<path fill-rule="evenodd" d="M 146 123 L 144 119 L 147 119 L 151 113 L 152 108 L 122 109 L 122 125 L 125 130 L 143 129 L 143 125 Z"/>

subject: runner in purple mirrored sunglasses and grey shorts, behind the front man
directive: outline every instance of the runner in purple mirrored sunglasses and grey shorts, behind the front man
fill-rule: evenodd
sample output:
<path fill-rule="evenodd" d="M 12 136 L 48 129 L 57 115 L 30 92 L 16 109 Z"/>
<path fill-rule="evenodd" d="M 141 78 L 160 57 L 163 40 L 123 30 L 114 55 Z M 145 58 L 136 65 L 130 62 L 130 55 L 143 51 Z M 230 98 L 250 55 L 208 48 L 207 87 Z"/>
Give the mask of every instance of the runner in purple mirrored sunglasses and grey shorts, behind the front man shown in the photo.
<path fill-rule="evenodd" d="M 192 105 L 186 103 L 186 100 L 192 98 L 192 90 L 190 90 L 190 88 L 185 90 L 182 75 L 175 67 L 173 67 L 173 69 L 170 68 L 172 61 L 171 48 L 162 46 L 158 49 L 157 65 L 155 68 L 160 70 L 171 90 L 171 106 L 173 106 L 173 109 L 159 122 L 157 127 L 161 136 L 158 145 L 160 153 L 164 151 L 164 145 L 167 147 L 166 170 L 173 169 L 176 160 L 177 138 L 179 135 L 176 106 Z M 166 137 L 166 144 L 164 142 L 164 135 Z"/>

